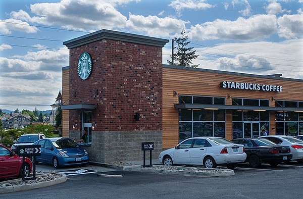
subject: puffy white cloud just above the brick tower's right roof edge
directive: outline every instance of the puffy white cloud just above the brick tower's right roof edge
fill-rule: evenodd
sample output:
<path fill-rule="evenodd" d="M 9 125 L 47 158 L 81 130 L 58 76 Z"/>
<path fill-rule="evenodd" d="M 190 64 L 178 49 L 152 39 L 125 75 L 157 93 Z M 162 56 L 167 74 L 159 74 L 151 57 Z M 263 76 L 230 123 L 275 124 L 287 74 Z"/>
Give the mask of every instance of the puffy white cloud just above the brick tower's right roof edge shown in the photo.
<path fill-rule="evenodd" d="M 170 34 L 181 32 L 182 29 L 185 29 L 185 24 L 187 23 L 189 22 L 170 17 L 144 17 L 142 15 L 132 15 L 130 13 L 127 27 L 148 35 L 168 37 Z"/>

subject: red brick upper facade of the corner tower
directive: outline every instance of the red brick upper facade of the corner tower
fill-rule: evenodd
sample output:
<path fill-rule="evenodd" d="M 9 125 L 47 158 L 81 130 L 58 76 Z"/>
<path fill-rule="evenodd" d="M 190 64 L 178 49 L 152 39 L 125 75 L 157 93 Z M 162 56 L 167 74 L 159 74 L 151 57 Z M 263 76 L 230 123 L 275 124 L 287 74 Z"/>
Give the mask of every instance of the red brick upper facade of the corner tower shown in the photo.
<path fill-rule="evenodd" d="M 77 64 L 84 52 L 92 70 L 82 80 Z M 162 130 L 162 47 L 102 39 L 70 48 L 69 66 L 69 104 L 97 104 L 87 110 L 96 131 Z M 81 129 L 81 111 L 70 110 L 70 129 Z"/>

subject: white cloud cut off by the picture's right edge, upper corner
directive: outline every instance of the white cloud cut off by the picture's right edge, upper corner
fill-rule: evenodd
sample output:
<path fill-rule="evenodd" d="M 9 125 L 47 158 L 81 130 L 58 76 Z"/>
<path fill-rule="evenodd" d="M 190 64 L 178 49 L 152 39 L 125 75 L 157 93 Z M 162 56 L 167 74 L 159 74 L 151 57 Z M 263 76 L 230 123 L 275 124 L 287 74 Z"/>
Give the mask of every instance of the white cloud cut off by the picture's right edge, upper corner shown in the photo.
<path fill-rule="evenodd" d="M 278 17 L 278 34 L 286 39 L 302 37 L 303 15 L 283 15 Z"/>

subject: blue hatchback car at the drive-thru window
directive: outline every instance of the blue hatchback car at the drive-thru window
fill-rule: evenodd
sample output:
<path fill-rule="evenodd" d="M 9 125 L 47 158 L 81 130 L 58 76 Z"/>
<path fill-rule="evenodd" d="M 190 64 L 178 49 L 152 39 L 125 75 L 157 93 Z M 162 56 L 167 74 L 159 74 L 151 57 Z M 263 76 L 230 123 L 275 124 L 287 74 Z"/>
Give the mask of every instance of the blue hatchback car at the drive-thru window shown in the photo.
<path fill-rule="evenodd" d="M 85 165 L 89 161 L 86 150 L 70 138 L 44 138 L 33 144 L 41 145 L 41 156 L 36 156 L 36 163 L 53 164 L 57 169 L 61 166 Z"/>

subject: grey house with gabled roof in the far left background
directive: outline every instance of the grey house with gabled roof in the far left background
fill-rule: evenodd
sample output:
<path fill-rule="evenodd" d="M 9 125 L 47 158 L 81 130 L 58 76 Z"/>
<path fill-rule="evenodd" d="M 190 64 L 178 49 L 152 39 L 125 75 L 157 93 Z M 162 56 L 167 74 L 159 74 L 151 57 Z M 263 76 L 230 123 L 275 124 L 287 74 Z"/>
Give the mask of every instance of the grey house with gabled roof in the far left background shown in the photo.
<path fill-rule="evenodd" d="M 4 114 L 1 117 L 4 129 L 23 128 L 28 126 L 31 120 L 32 118 L 29 115 L 21 113 Z"/>

